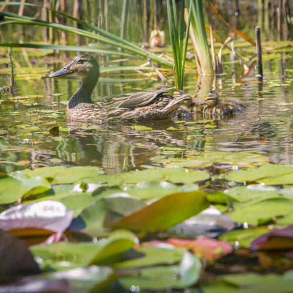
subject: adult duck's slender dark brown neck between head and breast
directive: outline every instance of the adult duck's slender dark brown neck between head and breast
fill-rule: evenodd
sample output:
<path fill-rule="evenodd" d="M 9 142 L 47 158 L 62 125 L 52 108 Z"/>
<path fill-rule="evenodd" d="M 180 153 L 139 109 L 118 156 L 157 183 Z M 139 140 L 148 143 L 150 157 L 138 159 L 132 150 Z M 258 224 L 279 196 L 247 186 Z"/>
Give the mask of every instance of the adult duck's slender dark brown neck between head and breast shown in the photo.
<path fill-rule="evenodd" d="M 81 87 L 71 97 L 71 99 L 68 102 L 67 107 L 69 109 L 72 109 L 80 103 L 93 104 L 93 101 L 91 99 L 91 94 L 92 94 L 92 92 L 98 82 L 98 78 L 95 76 L 84 77 Z"/>

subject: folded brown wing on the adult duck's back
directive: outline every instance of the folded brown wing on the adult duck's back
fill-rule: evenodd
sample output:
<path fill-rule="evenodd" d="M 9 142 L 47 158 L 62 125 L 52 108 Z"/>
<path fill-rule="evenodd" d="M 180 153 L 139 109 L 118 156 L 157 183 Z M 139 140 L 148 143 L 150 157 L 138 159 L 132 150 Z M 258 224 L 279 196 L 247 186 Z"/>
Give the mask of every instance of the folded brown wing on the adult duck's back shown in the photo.
<path fill-rule="evenodd" d="M 173 87 L 154 90 L 151 92 L 137 92 L 137 93 L 123 94 L 113 98 L 113 100 L 116 101 L 115 102 L 116 108 L 133 109 L 137 107 L 143 107 L 149 104 L 155 98 L 157 98 L 161 94 L 166 93 L 167 91 L 170 91 L 171 89 L 173 89 Z"/>

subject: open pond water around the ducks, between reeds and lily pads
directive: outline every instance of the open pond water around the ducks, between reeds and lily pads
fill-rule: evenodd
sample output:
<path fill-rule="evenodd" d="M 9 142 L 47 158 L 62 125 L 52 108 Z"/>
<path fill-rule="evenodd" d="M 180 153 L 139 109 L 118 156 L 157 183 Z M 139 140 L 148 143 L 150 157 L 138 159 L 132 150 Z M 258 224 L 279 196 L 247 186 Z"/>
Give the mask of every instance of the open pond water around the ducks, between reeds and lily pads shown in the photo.
<path fill-rule="evenodd" d="M 149 127 L 146 130 L 137 130 L 138 124 L 129 122 L 97 125 L 67 122 L 65 105 L 81 79 L 47 78 L 48 73 L 61 68 L 65 60 L 55 67 L 54 59 L 48 59 L 46 68 L 43 64 L 33 65 L 32 74 L 18 69 L 17 97 L 9 94 L 1 97 L 0 171 L 9 173 L 26 167 L 61 164 L 98 166 L 106 173 L 117 174 L 148 164 L 161 164 L 162 154 L 172 158 L 190 155 L 190 151 L 192 156 L 202 152 L 252 151 L 268 156 L 272 163 L 293 164 L 293 71 L 290 69 L 293 60 L 283 54 L 274 60 L 268 57 L 265 57 L 268 61 L 264 63 L 262 88 L 256 83 L 254 69 L 245 78 L 237 79 L 235 72 L 241 71 L 236 63 L 230 65 L 229 55 L 225 69 L 228 74 L 214 81 L 222 99 L 236 97 L 247 106 L 244 113 L 224 118 L 206 117 L 213 119 L 214 126 L 205 126 L 201 122 L 202 114 L 186 120 L 175 117 L 167 121 L 140 122 L 139 125 Z M 18 62 L 19 58 L 21 54 L 16 53 Z M 103 60 L 100 63 L 109 64 Z M 1 84 L 5 84 L 6 78 L 0 75 Z M 172 81 L 171 75 L 167 78 Z M 188 93 L 197 93 L 204 99 L 204 94 L 212 89 L 210 81 L 208 86 L 206 84 L 205 80 L 200 83 L 196 76 L 186 74 Z M 135 78 L 133 73 L 120 73 L 118 77 L 102 74 L 93 100 L 163 86 L 151 78 Z M 24 98 L 26 96 L 28 98 Z M 59 132 L 50 132 L 50 127 L 58 123 L 61 124 Z M 168 151 L 162 152 L 162 149 Z"/>

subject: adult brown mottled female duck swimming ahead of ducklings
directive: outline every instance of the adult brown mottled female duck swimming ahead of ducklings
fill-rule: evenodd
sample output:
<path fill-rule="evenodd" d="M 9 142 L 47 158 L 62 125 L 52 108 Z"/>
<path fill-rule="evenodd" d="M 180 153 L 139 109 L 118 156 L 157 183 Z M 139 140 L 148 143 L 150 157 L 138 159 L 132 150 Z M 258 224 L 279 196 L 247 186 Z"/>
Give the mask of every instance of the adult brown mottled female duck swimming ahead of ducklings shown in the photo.
<path fill-rule="evenodd" d="M 165 94 L 170 88 L 151 92 L 137 92 L 107 98 L 97 103 L 91 94 L 99 76 L 99 64 L 94 56 L 81 54 L 49 77 L 75 73 L 83 77 L 78 91 L 66 106 L 66 116 L 74 121 L 101 121 L 102 119 L 158 120 L 170 118 L 188 95 L 173 98 Z"/>

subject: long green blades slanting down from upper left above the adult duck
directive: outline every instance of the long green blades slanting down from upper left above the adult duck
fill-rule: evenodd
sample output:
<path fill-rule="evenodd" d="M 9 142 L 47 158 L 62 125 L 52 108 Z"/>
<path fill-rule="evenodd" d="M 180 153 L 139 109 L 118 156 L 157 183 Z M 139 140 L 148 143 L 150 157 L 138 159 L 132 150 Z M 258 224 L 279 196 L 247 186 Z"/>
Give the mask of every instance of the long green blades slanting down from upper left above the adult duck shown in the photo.
<path fill-rule="evenodd" d="M 20 2 L 8 2 L 7 3 L 7 2 L 0 1 L 0 5 L 3 5 L 3 4 L 9 4 L 9 5 L 21 5 L 21 4 L 26 5 L 26 4 L 28 4 L 28 6 L 42 7 L 40 5 L 34 5 L 34 4 L 30 4 L 30 3 L 20 3 Z M 77 23 L 83 25 L 84 27 L 86 27 L 94 32 L 86 31 L 84 29 L 75 28 L 75 27 L 60 24 L 60 23 L 55 23 L 55 22 L 50 22 L 50 21 L 41 21 L 41 20 L 38 20 L 38 19 L 35 19 L 32 17 L 19 16 L 17 14 L 6 12 L 6 11 L 2 11 L 1 14 L 4 16 L 4 19 L 7 21 L 0 22 L 0 25 L 4 25 L 4 24 L 8 24 L 8 23 L 20 23 L 20 24 L 28 24 L 28 25 L 41 25 L 41 26 L 47 26 L 50 28 L 61 29 L 66 32 L 70 32 L 70 33 L 84 36 L 84 37 L 87 37 L 87 38 L 90 38 L 90 39 L 93 39 L 93 40 L 96 40 L 99 42 L 110 44 L 110 45 L 115 46 L 117 48 L 121 48 L 123 50 L 129 51 L 135 55 L 139 55 L 141 57 L 146 58 L 146 54 L 145 54 L 144 49 L 135 45 L 135 44 L 132 44 L 131 42 L 128 42 L 118 36 L 115 36 L 111 33 L 106 32 L 103 29 L 98 28 L 95 25 L 92 25 L 90 23 L 87 23 L 86 21 L 82 21 L 80 19 L 74 18 L 73 16 L 70 16 L 66 13 L 61 12 L 61 11 L 58 11 L 58 10 L 55 10 L 52 8 L 48 8 L 48 7 L 44 7 L 44 8 L 46 8 L 50 11 L 54 11 L 55 13 L 59 13 L 72 21 L 76 21 Z M 133 55 L 133 57 L 136 57 L 135 55 Z M 171 68 L 173 66 L 173 64 L 171 62 L 167 61 L 166 59 L 160 58 L 151 52 L 148 52 L 148 55 L 153 61 L 155 61 L 157 63 L 164 64 L 165 66 L 171 67 Z"/>

